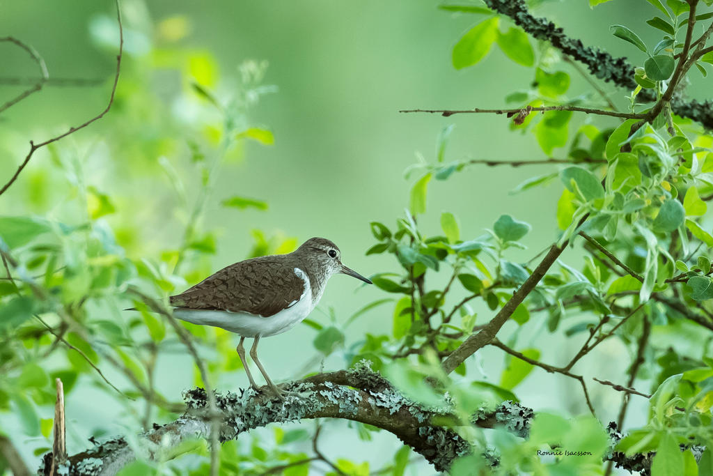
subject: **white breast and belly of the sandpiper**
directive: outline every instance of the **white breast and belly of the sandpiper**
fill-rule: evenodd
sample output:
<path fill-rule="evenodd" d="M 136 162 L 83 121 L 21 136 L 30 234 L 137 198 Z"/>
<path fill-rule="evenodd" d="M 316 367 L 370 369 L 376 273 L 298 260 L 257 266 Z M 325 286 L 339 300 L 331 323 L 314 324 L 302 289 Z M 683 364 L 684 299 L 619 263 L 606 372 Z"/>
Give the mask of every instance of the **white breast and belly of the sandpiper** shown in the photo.
<path fill-rule="evenodd" d="M 250 313 L 231 313 L 227 310 L 199 310 L 199 309 L 176 309 L 173 312 L 176 318 L 189 323 L 200 325 L 212 325 L 217 328 L 229 330 L 232 333 L 242 335 L 242 337 L 267 337 L 284 333 L 290 330 L 297 323 L 302 322 L 314 309 L 315 301 L 312 302 L 312 287 L 309 285 L 307 273 L 299 268 L 294 268 L 294 274 L 304 281 L 304 291 L 299 299 L 276 314 L 267 318 L 261 315 Z"/>

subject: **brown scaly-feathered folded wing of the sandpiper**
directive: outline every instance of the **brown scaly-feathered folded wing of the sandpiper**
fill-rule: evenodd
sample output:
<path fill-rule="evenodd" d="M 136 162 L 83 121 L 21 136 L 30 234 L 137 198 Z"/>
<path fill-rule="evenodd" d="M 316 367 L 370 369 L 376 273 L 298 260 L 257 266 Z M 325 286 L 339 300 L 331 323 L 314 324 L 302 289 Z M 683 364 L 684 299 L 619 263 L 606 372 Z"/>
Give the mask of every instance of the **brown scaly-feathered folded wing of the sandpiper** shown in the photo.
<path fill-rule="evenodd" d="M 270 317 L 289 308 L 304 293 L 294 265 L 273 256 L 253 258 L 223 268 L 183 293 L 170 297 L 183 309 L 227 310 Z"/>

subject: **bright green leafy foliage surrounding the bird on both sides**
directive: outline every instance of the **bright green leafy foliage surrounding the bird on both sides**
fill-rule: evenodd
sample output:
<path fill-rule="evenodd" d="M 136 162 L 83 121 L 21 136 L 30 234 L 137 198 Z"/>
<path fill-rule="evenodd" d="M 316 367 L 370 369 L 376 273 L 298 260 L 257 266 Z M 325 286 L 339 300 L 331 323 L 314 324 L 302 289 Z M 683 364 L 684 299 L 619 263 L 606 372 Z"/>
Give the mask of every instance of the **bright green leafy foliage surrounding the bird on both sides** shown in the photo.
<path fill-rule="evenodd" d="M 600 3 L 590 1 L 593 6 Z M 642 90 L 652 90 L 657 97 L 666 90 L 689 21 L 686 2 L 648 3 L 655 6 L 657 16 L 645 23 L 662 33 L 655 46 L 635 33 L 642 25 L 630 29 L 617 24 L 610 29 L 646 55 L 636 69 L 638 86 L 625 104 L 631 112 L 651 107 L 637 103 Z M 713 18 L 704 9 L 710 4 L 699 2 L 697 18 L 705 26 Z M 569 240 L 581 248 L 584 259 L 580 265 L 558 260 L 515 309 L 514 331 L 502 338 L 506 341 L 502 345 L 520 349 L 505 354 L 497 384 L 475 378 L 473 360 L 459 365 L 456 375 L 445 375 L 443 358 L 503 308 L 541 254 L 524 262 L 518 258 L 528 251 L 532 226 L 508 213 L 489 228 L 483 226 L 483 233 L 475 237 L 461 232 L 461 223 L 472 217 L 452 211 L 440 213 L 439 230 L 421 225 L 432 213 L 428 207 L 432 181 L 453 180 L 477 165 L 472 160 L 451 160 L 447 145 L 456 130 L 446 126 L 437 135 L 433 156 L 420 158 L 406 171 L 413 186 L 404 215 L 393 223 L 369 224 L 374 243 L 366 254 L 393 257 L 391 268 L 371 275 L 383 296 L 346 319 L 330 310 L 326 318 L 312 316 L 304 321 L 314 329 L 314 363 L 336 355 L 348 367 L 366 359 L 416 402 L 438 405 L 447 395 L 454 408 L 453 421 L 441 424 L 453 427 L 476 448 L 476 455 L 456 462 L 453 475 L 486 472 L 486 468 L 503 475 L 602 474 L 602 458 L 612 450 L 627 455 L 656 451 L 653 475 L 712 474 L 709 248 L 713 230 L 707 203 L 713 198 L 713 137 L 697 123 L 673 116 L 668 108 L 635 133 L 631 133 L 636 123 L 632 119 L 612 126 L 610 118 L 594 116 L 575 125 L 572 111 L 529 113 L 527 106 L 599 106 L 610 99 L 597 97 L 597 91 L 571 92 L 566 59 L 549 44 L 531 41 L 506 16 L 494 15 L 479 4 L 440 8 L 474 19 L 460 39 L 453 36 L 454 68 L 477 65 L 497 46 L 509 60 L 528 69 L 530 86 L 504 98 L 524 111 L 511 121 L 511 131 L 533 134 L 544 156 L 557 153 L 560 162 L 570 163 L 528 178 L 513 193 L 523 194 L 524 201 L 525 193 L 559 179 L 560 198 L 542 213 L 556 216 L 560 233 L 553 239 L 559 244 Z M 221 171 L 243 157 L 245 141 L 275 143 L 269 128 L 251 120 L 260 98 L 275 92 L 263 83 L 266 65 L 248 61 L 239 66 L 234 79 L 220 81 L 210 52 L 174 43 L 186 34 L 185 19 L 165 19 L 145 28 L 152 31 L 126 30 L 127 53 L 143 55 L 135 56 L 122 72 L 111 119 L 122 126 L 103 126 L 106 137 L 87 146 L 91 152 L 82 151 L 86 144 L 51 145 L 47 167 L 63 181 L 50 186 L 46 171 L 21 176 L 31 188 L 31 207 L 37 213 L 0 217 L 6 270 L 0 279 L 0 412 L 17 417 L 22 436 L 15 437 L 4 425 L 0 432 L 13 436 L 19 445 L 30 445 L 36 456 L 51 446 L 51 419 L 42 416 L 54 403 L 55 378 L 61 378 L 68 395 L 93 385 L 113 397 L 125 407 L 128 434 L 180 413 L 178 395 L 165 395 L 155 382 L 158 357 L 178 352 L 180 342 L 130 288 L 165 301 L 210 274 L 210 258 L 222 241 L 217 230 L 204 225 L 207 203 L 220 203 L 235 213 L 269 209 L 264 197 L 217 196 L 214 190 Z M 116 25 L 109 17 L 96 17 L 90 29 L 98 44 L 113 47 Z M 152 35 L 163 43 L 152 44 Z M 710 54 L 703 56 L 691 74 L 705 76 L 710 63 Z M 158 70 L 179 86 L 163 88 L 153 81 Z M 227 83 L 232 84 L 227 87 Z M 170 98 L 165 97 L 168 93 Z M 160 203 L 140 203 L 133 196 L 113 195 L 98 183 L 89 183 L 86 154 L 108 167 L 108 173 L 129 176 L 137 187 L 150 188 Z M 138 159 L 146 157 L 156 159 Z M 471 181 L 477 186 L 477 178 Z M 59 203 L 60 196 L 68 199 Z M 178 245 L 145 245 L 150 233 L 139 229 L 134 215 L 146 207 L 152 213 L 170 210 L 182 221 L 175 235 L 180 237 Z M 246 258 L 288 253 L 298 244 L 296 238 L 259 230 L 252 231 L 252 238 L 254 245 Z M 619 263 L 602 250 L 615 255 Z M 130 306 L 138 313 L 122 312 Z M 487 312 L 479 315 L 476 308 Z M 370 328 L 356 341 L 348 340 L 349 326 L 375 309 L 389 316 L 386 323 Z M 632 356 L 627 387 L 636 382 L 638 390 L 646 393 L 642 385 L 649 385 L 652 393 L 647 424 L 630 430 L 612 448 L 607 422 L 586 411 L 585 395 L 573 393 L 568 395 L 571 407 L 582 415 L 538 412 L 528 439 L 501 428 L 486 431 L 472 425 L 472 415 L 483 407 L 504 400 L 527 405 L 528 395 L 518 393 L 518 386 L 533 373 L 533 361 L 540 363 L 545 355 L 537 340 L 520 339 L 532 329 L 528 325 L 544 326 L 548 333 L 577 345 L 584 342 L 580 355 L 571 356 L 569 367 L 555 368 L 563 378 L 571 376 L 566 373 L 572 366 L 603 340 L 620 341 Z M 232 335 L 217 328 L 185 326 L 208 355 L 214 382 L 218 375 L 240 370 Z M 525 348 L 523 340 L 527 340 Z M 543 365 L 545 370 L 551 368 Z M 121 376 L 120 388 L 101 373 L 103 368 Z M 195 385 L 202 385 L 197 370 L 194 375 Z M 434 381 L 440 385 L 431 385 Z M 625 410 L 621 415 L 620 425 Z M 379 432 L 359 424 L 352 424 L 351 430 L 366 441 Z M 317 465 L 327 467 L 323 457 L 308 449 L 311 440 L 316 447 L 319 435 L 311 423 L 272 431 L 272 440 L 266 433 L 256 433 L 222 445 L 221 474 L 257 475 L 284 466 L 279 470 L 284 474 L 306 475 Z M 695 459 L 693 451 L 701 447 L 707 450 Z M 558 450 L 586 454 L 540 455 Z M 185 451 L 196 457 L 138 461 L 120 474 L 206 474 L 205 442 L 195 442 Z M 410 450 L 399 446 L 382 468 L 370 468 L 360 455 L 350 457 L 329 461 L 327 474 L 369 475 L 376 470 L 402 475 L 412 462 Z M 497 464 L 490 468 L 486 461 Z M 0 474 L 5 468 L 0 459 Z"/>

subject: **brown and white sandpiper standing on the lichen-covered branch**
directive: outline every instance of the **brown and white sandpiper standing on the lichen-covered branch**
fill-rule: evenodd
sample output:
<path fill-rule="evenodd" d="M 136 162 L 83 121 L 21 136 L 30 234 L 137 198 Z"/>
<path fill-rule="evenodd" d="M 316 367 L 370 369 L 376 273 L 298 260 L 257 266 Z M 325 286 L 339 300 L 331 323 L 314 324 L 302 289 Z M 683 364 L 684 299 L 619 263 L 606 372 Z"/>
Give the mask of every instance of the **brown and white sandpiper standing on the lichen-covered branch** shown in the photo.
<path fill-rule="evenodd" d="M 250 385 L 257 390 L 242 347 L 245 338 L 254 338 L 250 357 L 267 385 L 282 398 L 282 392 L 257 359 L 257 343 L 262 337 L 284 333 L 302 322 L 319 303 L 332 275 L 344 273 L 371 284 L 343 265 L 341 255 L 331 241 L 310 238 L 287 255 L 240 261 L 171 296 L 173 315 L 189 323 L 214 325 L 240 335 L 237 355 Z"/>

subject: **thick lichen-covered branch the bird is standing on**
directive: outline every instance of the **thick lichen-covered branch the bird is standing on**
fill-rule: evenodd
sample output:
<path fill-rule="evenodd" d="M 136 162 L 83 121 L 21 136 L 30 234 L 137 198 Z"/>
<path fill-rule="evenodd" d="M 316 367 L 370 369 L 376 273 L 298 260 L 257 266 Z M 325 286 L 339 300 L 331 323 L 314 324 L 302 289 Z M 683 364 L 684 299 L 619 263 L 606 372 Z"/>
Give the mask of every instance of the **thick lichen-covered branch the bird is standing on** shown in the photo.
<path fill-rule="evenodd" d="M 446 470 L 456 457 L 471 451 L 471 444 L 458 433 L 431 423 L 436 416 L 450 415 L 447 405 L 442 408 L 419 405 L 366 366 L 314 375 L 287 385 L 286 390 L 292 394 L 284 403 L 272 399 L 270 393 L 257 394 L 252 389 L 217 393 L 222 414 L 221 441 L 235 439 L 243 432 L 270 423 L 332 417 L 363 422 L 393 433 L 439 471 Z M 109 440 L 69 457 L 66 469 L 72 475 L 114 475 L 138 457 L 168 459 L 185 451 L 184 442 L 196 438 L 207 440 L 210 418 L 205 390 L 189 390 L 184 398 L 188 405 L 185 414 L 138 435 L 138 445 L 130 445 L 123 437 Z M 527 437 L 532 416 L 532 410 L 505 402 L 496 410 L 476 415 L 473 423 L 481 427 L 503 425 L 516 435 Z M 49 454 L 44 461 L 48 459 Z M 39 474 L 46 475 L 47 470 L 45 464 Z"/>

